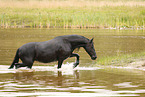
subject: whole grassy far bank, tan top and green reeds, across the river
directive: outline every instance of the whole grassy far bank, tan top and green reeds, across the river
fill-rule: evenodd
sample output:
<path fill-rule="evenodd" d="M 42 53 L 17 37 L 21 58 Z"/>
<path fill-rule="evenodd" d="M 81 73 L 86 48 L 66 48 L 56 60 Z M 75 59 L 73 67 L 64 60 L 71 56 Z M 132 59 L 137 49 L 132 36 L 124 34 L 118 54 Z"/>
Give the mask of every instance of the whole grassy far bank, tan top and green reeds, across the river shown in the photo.
<path fill-rule="evenodd" d="M 141 28 L 144 0 L 0 0 L 1 28 Z"/>

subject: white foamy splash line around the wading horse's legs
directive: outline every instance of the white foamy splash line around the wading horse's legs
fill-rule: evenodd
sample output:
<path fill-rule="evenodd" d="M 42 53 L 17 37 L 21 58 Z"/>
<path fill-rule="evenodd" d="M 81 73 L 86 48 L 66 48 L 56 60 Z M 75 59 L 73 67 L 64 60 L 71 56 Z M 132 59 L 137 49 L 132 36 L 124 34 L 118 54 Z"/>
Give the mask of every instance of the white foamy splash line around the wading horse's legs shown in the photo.
<path fill-rule="evenodd" d="M 19 69 L 8 69 L 7 65 L 0 65 L 0 73 L 16 73 L 16 72 L 35 72 L 35 71 L 61 71 L 63 75 L 73 75 L 74 70 L 97 70 L 99 67 L 76 67 L 73 68 L 73 63 L 62 64 L 60 69 L 57 69 L 57 65 L 54 66 L 33 66 L 32 69 L 22 67 Z"/>

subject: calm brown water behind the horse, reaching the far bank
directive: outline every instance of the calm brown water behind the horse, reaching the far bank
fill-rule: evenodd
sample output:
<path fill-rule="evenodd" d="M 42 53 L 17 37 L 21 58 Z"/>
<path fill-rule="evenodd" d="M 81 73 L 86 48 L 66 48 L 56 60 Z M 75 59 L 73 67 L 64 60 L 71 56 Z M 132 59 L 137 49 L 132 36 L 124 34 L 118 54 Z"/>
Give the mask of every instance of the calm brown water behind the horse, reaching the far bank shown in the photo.
<path fill-rule="evenodd" d="M 70 34 L 83 35 L 89 39 L 94 37 L 98 58 L 145 50 L 145 32 L 142 30 L 0 29 L 0 64 L 11 64 L 17 48 L 25 43 L 47 41 Z M 83 48 L 76 53 L 80 54 L 80 65 L 93 62 Z M 70 61 L 73 62 L 74 59 L 71 58 Z"/>

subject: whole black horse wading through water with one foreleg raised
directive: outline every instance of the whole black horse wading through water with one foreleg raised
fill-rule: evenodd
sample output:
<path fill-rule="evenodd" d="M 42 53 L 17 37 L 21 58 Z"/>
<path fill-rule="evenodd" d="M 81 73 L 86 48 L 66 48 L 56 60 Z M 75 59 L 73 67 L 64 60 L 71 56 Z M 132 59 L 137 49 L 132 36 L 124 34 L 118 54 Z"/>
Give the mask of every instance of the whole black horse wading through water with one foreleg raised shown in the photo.
<path fill-rule="evenodd" d="M 18 48 L 14 61 L 9 67 L 12 69 L 14 66 L 17 68 L 28 67 L 32 68 L 34 61 L 49 63 L 58 61 L 58 69 L 65 59 L 68 57 L 76 57 L 74 68 L 79 64 L 79 55 L 73 53 L 74 49 L 83 47 L 90 55 L 92 60 L 97 58 L 93 45 L 93 38 L 89 40 L 80 35 L 65 35 L 58 36 L 52 40 L 44 42 L 31 42 L 24 44 Z M 19 59 L 22 63 L 18 63 Z"/>

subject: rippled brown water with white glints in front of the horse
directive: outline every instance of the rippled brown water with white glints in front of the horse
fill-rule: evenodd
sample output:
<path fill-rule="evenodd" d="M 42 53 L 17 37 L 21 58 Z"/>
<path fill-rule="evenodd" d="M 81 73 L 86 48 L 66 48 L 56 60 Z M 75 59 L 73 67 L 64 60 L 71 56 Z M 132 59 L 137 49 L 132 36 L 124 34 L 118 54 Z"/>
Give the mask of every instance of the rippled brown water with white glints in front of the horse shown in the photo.
<path fill-rule="evenodd" d="M 0 96 L 145 96 L 144 71 L 93 67 L 57 70 L 51 66 L 51 70 L 41 71 L 43 68 L 38 68 L 1 73 Z"/>

